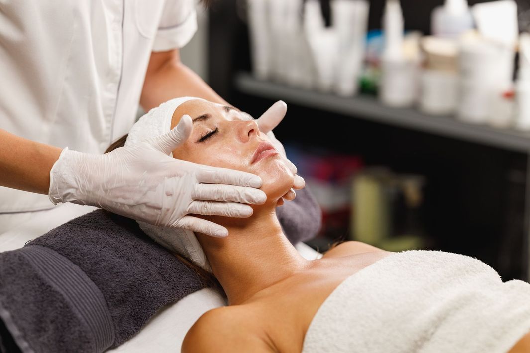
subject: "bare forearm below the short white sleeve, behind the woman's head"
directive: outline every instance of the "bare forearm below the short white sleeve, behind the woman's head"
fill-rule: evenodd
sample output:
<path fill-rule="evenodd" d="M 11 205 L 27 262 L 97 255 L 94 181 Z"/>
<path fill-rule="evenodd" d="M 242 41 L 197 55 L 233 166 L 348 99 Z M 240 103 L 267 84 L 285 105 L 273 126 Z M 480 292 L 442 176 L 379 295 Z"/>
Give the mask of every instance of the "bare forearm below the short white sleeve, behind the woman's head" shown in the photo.
<path fill-rule="evenodd" d="M 178 50 L 153 53 L 144 82 L 140 105 L 145 111 L 176 97 L 199 97 L 228 104 L 193 70 L 182 64 Z"/>

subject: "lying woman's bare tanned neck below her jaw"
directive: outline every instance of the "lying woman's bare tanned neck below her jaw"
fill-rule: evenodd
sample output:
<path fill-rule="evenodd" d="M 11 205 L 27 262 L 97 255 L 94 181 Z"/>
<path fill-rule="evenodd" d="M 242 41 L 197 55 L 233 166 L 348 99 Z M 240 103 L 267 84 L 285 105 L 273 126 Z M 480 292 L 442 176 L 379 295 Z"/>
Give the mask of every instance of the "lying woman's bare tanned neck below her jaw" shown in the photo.
<path fill-rule="evenodd" d="M 198 234 L 197 239 L 229 305 L 241 304 L 308 266 L 282 232 L 275 207 L 255 207 L 250 218 L 219 221 L 228 237 Z"/>

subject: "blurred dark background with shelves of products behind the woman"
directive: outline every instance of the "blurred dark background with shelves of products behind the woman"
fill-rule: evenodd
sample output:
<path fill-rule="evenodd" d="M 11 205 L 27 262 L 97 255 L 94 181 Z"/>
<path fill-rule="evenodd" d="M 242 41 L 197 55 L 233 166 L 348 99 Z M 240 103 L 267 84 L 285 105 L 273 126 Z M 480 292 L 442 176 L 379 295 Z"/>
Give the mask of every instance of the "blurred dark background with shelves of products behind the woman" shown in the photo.
<path fill-rule="evenodd" d="M 275 129 L 340 240 L 528 280 L 530 3 L 223 0 L 182 60 Z"/>

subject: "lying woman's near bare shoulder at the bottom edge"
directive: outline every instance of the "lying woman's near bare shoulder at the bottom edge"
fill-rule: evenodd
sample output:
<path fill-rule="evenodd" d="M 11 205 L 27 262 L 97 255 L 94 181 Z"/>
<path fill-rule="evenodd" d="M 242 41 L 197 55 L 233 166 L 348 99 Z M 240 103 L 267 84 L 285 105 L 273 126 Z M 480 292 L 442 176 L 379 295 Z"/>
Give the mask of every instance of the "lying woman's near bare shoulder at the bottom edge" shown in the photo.
<path fill-rule="evenodd" d="M 237 306 L 207 311 L 184 337 L 181 353 L 272 352 L 260 332 L 249 323 Z"/>

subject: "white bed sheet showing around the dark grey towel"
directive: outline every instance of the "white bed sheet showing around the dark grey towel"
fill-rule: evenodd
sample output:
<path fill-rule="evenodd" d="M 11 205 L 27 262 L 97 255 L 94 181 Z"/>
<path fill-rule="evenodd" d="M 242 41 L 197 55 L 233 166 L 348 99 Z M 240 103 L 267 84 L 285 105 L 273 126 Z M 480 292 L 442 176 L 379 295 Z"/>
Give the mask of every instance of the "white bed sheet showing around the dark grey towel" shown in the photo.
<path fill-rule="evenodd" d="M 21 248 L 29 240 L 93 210 L 95 207 L 67 203 L 48 211 L 35 212 L 29 221 L 0 234 L 0 252 Z M 307 259 L 322 257 L 302 242 L 296 245 L 296 249 Z M 208 310 L 223 305 L 226 303 L 219 293 L 209 288 L 201 289 L 164 307 L 136 336 L 108 352 L 180 352 L 182 340 L 191 325 Z"/>

